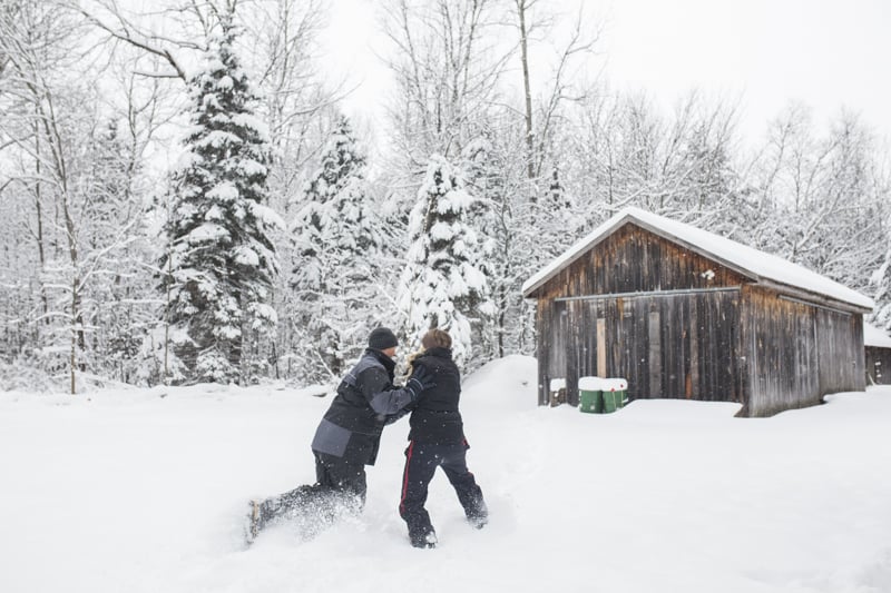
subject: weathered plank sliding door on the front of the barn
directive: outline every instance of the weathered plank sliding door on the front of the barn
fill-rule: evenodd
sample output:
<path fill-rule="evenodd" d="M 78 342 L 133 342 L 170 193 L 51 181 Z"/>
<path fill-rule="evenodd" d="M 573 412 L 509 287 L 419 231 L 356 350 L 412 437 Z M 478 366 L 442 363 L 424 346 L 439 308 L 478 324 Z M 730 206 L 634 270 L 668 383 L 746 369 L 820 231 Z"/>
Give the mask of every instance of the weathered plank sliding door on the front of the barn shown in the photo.
<path fill-rule="evenodd" d="M 567 379 L 568 403 L 578 404 L 579 377 L 598 375 L 628 379 L 631 399 L 744 402 L 738 289 L 564 303 L 565 366 L 562 374 L 559 365 L 548 372 Z"/>

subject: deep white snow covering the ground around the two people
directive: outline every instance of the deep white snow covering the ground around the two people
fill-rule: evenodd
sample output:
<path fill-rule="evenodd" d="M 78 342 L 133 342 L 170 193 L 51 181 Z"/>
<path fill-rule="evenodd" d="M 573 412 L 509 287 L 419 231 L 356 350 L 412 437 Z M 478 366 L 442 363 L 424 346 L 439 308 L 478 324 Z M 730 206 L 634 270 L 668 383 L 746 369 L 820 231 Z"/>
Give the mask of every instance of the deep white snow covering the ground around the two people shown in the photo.
<path fill-rule="evenodd" d="M 891 387 L 767 419 L 674 401 L 595 416 L 537 407 L 535 369 L 509 357 L 466 380 L 491 523 L 471 530 L 438 474 L 435 550 L 396 514 L 404 421 L 360 518 L 244 550 L 245 501 L 312 480 L 327 398 L 0 394 L 0 591 L 891 591 Z"/>

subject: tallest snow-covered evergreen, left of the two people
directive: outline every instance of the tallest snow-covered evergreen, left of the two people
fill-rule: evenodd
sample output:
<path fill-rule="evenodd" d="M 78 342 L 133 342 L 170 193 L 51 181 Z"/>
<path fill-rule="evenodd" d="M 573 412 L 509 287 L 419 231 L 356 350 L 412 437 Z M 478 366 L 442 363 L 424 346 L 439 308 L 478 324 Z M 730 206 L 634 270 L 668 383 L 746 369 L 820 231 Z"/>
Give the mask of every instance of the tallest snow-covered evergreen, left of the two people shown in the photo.
<path fill-rule="evenodd" d="M 173 175 L 170 248 L 160 261 L 170 270 L 161 289 L 170 289 L 173 352 L 186 382 L 253 380 L 276 324 L 270 233 L 282 221 L 263 204 L 268 134 L 233 52 L 232 18 L 221 14 L 204 69 L 189 80 L 192 128 Z"/>

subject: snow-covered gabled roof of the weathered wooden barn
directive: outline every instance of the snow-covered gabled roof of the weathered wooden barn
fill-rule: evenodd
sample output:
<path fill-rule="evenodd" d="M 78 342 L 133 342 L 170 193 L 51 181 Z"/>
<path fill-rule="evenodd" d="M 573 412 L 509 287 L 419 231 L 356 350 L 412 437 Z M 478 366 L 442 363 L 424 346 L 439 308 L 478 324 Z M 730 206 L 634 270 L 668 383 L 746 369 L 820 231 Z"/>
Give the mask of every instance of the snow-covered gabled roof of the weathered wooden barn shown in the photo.
<path fill-rule="evenodd" d="M 617 213 L 613 218 L 594 229 L 587 237 L 577 241 L 566 253 L 526 280 L 522 285 L 523 296 L 531 296 L 531 293 L 541 287 L 558 271 L 628 223 L 682 245 L 703 257 L 714 259 L 760 284 L 773 286 L 780 291 L 792 294 L 804 291 L 830 298 L 838 303 L 853 305 L 858 309 L 871 310 L 873 307 L 871 298 L 802 266 L 721 237 L 714 233 L 634 207 L 628 207 Z"/>

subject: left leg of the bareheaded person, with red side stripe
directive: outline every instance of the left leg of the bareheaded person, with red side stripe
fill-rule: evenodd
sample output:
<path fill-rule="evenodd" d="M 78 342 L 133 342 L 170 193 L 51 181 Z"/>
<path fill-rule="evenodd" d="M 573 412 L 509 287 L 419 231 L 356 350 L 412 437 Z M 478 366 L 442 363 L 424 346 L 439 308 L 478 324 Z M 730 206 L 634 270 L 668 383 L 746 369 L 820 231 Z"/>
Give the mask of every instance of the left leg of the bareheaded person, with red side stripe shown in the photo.
<path fill-rule="evenodd" d="M 439 464 L 432 448 L 412 441 L 405 449 L 399 515 L 405 521 L 409 540 L 415 547 L 432 547 L 435 544 L 435 531 L 424 508 L 428 486 Z"/>

